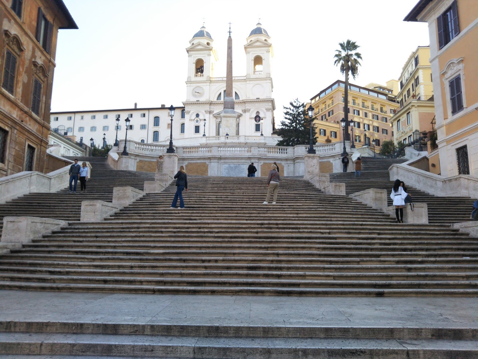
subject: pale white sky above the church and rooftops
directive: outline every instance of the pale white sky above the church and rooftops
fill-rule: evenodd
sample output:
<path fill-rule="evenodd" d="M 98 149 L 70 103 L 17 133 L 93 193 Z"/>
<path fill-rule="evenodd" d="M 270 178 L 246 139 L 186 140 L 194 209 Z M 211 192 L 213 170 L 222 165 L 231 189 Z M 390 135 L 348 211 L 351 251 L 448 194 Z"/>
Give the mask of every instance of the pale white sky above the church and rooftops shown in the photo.
<path fill-rule="evenodd" d="M 343 79 L 334 66 L 338 43 L 360 45 L 352 83 L 398 79 L 408 56 L 428 45 L 426 23 L 403 22 L 418 0 L 189 1 L 64 0 L 79 30 L 60 30 L 52 112 L 182 106 L 189 40 L 205 19 L 226 75 L 228 22 L 233 76 L 246 73 L 244 44 L 259 18 L 271 36 L 276 123 L 282 106 L 306 102 Z M 345 15 L 344 15 L 345 14 Z M 345 19 L 345 20 L 344 20 Z"/>

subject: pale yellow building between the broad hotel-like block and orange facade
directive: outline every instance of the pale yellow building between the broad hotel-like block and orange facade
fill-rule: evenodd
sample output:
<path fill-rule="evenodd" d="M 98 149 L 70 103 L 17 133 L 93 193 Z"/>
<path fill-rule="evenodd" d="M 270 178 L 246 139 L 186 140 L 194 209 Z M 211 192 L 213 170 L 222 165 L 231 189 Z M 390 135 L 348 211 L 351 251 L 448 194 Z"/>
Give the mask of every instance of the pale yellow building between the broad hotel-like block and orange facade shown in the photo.
<path fill-rule="evenodd" d="M 421 133 L 433 130 L 435 103 L 429 58 L 430 46 L 418 46 L 402 68 L 397 94 L 400 108 L 391 118 L 395 143 L 402 141 L 405 145 L 418 145 Z"/>

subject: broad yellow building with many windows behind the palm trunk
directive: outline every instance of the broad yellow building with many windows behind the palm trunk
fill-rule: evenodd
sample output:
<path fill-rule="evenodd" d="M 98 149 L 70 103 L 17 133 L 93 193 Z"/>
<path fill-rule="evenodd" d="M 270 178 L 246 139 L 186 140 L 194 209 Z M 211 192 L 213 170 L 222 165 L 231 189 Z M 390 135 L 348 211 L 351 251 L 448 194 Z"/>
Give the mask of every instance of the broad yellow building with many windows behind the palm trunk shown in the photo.
<path fill-rule="evenodd" d="M 396 80 L 388 82 L 390 88 L 372 84 L 377 89 L 348 84 L 348 120 L 354 122 L 356 147 L 372 145 L 375 139 L 378 152 L 383 140 L 391 140 L 390 118 L 399 106 L 393 96 L 393 81 Z M 340 120 L 344 117 L 344 92 L 345 82 L 338 80 L 311 99 L 317 118 L 314 122 L 317 143 L 342 141 Z M 347 130 L 351 133 L 351 129 Z"/>

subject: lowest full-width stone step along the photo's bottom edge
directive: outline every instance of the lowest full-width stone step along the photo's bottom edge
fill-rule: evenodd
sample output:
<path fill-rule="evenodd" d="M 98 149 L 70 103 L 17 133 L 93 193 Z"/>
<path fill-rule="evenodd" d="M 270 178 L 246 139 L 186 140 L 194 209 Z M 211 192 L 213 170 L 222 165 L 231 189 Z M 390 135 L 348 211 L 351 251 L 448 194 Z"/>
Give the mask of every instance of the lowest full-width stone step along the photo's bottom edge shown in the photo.
<path fill-rule="evenodd" d="M 109 334 L 0 333 L 0 353 L 174 358 L 445 359 L 478 355 L 478 341 L 446 339 L 235 338 Z M 450 349 L 451 348 L 451 349 Z"/>

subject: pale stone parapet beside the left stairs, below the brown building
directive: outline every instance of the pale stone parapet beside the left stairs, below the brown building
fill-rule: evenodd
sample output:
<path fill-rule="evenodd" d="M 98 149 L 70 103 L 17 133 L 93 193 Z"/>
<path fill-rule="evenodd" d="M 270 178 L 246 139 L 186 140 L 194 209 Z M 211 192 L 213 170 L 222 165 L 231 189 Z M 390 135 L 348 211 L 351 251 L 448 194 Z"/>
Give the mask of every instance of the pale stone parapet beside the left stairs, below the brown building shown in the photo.
<path fill-rule="evenodd" d="M 68 185 L 68 170 L 71 165 L 44 174 L 23 171 L 0 179 L 0 203 L 31 192 L 56 192 Z"/>

